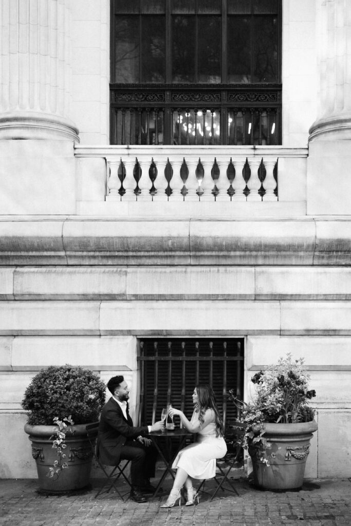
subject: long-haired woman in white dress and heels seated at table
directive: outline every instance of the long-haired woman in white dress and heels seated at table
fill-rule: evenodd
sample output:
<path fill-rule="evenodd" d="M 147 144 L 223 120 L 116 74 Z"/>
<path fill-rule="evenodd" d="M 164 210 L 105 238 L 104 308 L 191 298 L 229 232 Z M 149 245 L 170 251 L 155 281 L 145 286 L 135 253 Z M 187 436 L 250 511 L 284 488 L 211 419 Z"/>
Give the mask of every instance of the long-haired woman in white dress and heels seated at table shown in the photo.
<path fill-rule="evenodd" d="M 227 446 L 223 438 L 223 421 L 219 416 L 216 397 L 212 387 L 197 386 L 193 393 L 194 412 L 189 421 L 183 411 L 171 408 L 169 414 L 180 417 L 183 427 L 190 433 L 197 433 L 197 440 L 179 451 L 172 469 L 176 469 L 173 488 L 161 508 L 172 508 L 179 501 L 183 485 L 187 491 L 186 506 L 194 504 L 197 491 L 193 479 L 212 479 L 216 474 L 216 459 L 224 457 Z"/>

